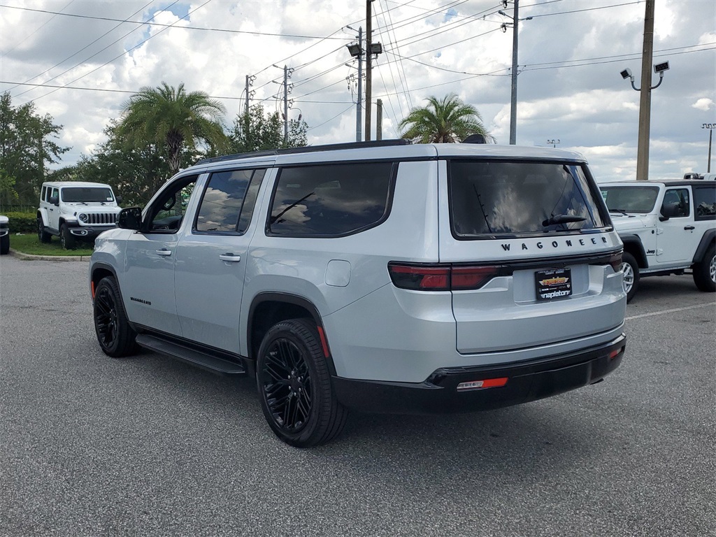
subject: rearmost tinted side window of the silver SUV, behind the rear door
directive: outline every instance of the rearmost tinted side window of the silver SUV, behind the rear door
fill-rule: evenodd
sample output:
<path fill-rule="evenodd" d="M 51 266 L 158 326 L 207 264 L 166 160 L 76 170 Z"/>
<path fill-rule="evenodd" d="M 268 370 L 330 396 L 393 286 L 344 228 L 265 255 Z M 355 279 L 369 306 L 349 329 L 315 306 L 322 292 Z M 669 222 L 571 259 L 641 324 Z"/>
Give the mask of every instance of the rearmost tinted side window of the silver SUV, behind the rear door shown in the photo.
<path fill-rule="evenodd" d="M 288 236 L 339 236 L 384 220 L 390 162 L 311 165 L 281 170 L 268 231 Z"/>

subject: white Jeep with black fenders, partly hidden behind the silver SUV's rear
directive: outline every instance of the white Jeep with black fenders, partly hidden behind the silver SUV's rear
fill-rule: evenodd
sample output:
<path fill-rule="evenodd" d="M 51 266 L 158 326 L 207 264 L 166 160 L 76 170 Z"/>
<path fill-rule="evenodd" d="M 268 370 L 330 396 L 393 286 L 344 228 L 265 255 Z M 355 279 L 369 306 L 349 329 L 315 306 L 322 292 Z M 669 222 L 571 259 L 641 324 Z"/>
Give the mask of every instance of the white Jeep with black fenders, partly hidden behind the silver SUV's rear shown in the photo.
<path fill-rule="evenodd" d="M 716 289 L 716 182 L 602 183 L 624 243 L 624 290 L 631 300 L 643 276 L 691 271 L 701 291 Z"/>

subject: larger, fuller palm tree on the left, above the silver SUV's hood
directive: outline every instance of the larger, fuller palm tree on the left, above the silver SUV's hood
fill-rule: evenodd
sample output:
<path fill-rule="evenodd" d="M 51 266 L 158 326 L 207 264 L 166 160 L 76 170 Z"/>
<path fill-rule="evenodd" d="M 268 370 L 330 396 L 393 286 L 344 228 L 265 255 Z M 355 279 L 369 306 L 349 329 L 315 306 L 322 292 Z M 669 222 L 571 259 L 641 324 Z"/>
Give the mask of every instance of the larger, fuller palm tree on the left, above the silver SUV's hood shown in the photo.
<path fill-rule="evenodd" d="M 198 140 L 220 147 L 226 143 L 221 124 L 224 105 L 204 92 L 187 93 L 183 82 L 177 88 L 166 82 L 142 87 L 122 109 L 117 135 L 132 147 L 165 145 L 172 174 L 180 168 L 185 147 L 196 150 Z"/>

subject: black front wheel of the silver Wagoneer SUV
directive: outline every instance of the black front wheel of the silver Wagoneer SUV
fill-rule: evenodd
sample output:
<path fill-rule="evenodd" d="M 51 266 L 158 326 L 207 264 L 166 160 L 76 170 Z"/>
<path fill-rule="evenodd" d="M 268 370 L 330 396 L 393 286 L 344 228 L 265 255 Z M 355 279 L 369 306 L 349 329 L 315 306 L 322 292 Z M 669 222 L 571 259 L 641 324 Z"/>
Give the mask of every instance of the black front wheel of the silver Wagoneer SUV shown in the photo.
<path fill-rule="evenodd" d="M 102 278 L 95 289 L 95 332 L 102 351 L 113 358 L 137 352 L 137 332 L 127 321 L 120 287 L 114 278 Z"/>

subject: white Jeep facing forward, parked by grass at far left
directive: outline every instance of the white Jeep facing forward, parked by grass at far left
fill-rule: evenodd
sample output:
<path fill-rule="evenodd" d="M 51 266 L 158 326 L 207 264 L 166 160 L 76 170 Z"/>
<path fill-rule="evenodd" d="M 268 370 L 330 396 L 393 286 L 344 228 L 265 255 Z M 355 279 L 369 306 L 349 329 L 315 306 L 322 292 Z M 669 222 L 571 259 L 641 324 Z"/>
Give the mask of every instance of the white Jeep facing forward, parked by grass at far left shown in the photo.
<path fill-rule="evenodd" d="M 62 248 L 72 249 L 76 241 L 94 241 L 114 228 L 121 200 L 110 185 L 80 181 L 42 183 L 37 209 L 37 237 L 49 243 L 59 236 Z"/>

